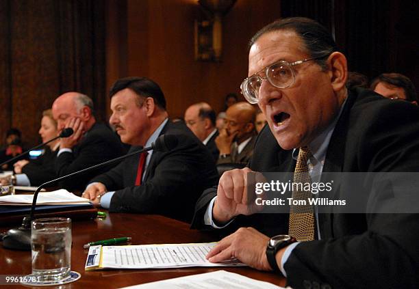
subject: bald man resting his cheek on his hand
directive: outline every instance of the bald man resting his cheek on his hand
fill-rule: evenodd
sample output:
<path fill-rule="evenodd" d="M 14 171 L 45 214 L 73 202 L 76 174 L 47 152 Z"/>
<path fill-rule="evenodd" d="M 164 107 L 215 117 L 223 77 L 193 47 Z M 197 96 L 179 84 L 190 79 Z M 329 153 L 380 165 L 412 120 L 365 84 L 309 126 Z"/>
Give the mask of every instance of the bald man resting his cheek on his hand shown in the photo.
<path fill-rule="evenodd" d="M 93 115 L 92 100 L 78 92 L 67 92 L 53 102 L 53 118 L 58 130 L 71 127 L 71 137 L 61 139 L 60 150 L 55 160 L 58 176 L 65 176 L 98 163 L 114 159 L 123 154 L 122 145 L 116 134 L 105 124 L 97 122 Z M 65 180 L 61 186 L 66 189 L 84 189 L 88 181 L 107 171 L 110 167 L 93 170 L 91 174 L 81 174 Z"/>

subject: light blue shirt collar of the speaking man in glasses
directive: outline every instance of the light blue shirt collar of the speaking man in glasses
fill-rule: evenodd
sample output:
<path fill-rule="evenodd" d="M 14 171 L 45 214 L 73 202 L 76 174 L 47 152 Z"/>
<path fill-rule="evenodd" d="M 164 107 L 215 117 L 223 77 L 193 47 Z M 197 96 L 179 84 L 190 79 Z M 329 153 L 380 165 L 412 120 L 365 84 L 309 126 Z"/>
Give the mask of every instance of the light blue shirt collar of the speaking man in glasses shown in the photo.
<path fill-rule="evenodd" d="M 327 148 L 329 147 L 331 135 L 333 134 L 333 130 L 335 130 L 335 126 L 338 123 L 340 115 L 342 114 L 343 108 L 346 104 L 346 99 L 347 98 L 345 98 L 342 104 L 342 107 L 340 107 L 338 116 L 333 120 L 333 122 L 331 122 L 331 124 L 329 124 L 329 126 L 327 126 L 327 128 L 323 130 L 323 132 L 320 133 L 320 135 L 318 135 L 311 143 L 309 143 L 308 147 L 314 156 L 314 158 L 312 158 L 310 161 L 314 161 L 314 162 L 325 161 L 326 152 L 327 152 Z M 299 151 L 294 148 L 294 150 L 292 151 L 292 158 L 296 160 L 298 156 L 299 156 Z M 313 165 L 316 165 L 316 163 L 314 163 Z"/>

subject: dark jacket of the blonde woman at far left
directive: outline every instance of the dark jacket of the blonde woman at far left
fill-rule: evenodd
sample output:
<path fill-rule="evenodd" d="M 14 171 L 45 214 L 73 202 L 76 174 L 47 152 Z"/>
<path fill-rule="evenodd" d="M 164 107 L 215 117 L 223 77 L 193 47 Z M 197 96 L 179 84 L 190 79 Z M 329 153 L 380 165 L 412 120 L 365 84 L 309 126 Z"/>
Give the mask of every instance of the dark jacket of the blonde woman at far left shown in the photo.
<path fill-rule="evenodd" d="M 22 167 L 22 174 L 26 174 L 31 182 L 31 186 L 38 187 L 44 182 L 58 178 L 55 173 L 55 158 L 57 157 L 57 153 L 58 150 L 51 152 L 51 149 L 47 146 L 42 156 L 29 161 L 27 165 Z"/>

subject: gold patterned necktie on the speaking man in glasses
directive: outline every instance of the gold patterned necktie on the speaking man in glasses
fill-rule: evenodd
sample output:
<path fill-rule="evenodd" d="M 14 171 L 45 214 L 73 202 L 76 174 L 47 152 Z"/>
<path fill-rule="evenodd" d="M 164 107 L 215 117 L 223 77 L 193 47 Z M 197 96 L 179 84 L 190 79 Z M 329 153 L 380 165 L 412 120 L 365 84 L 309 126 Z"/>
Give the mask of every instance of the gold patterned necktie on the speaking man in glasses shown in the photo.
<path fill-rule="evenodd" d="M 290 206 L 289 234 L 299 241 L 314 240 L 314 206 L 310 205 L 308 201 L 312 197 L 312 193 L 301 189 L 301 187 L 305 187 L 306 183 L 309 183 L 311 187 L 312 179 L 307 166 L 307 161 L 311 157 L 312 152 L 309 148 L 300 148 L 294 171 L 292 199 L 299 201 L 299 204 Z"/>

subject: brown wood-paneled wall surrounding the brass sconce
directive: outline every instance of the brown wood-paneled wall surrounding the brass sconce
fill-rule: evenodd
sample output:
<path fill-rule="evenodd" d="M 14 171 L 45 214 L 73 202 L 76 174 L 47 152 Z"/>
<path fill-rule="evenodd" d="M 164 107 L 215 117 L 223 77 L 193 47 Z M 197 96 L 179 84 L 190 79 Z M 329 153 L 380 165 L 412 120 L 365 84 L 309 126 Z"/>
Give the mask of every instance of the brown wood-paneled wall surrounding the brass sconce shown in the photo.
<path fill-rule="evenodd" d="M 204 17 L 197 1 L 110 0 L 107 90 L 120 77 L 149 77 L 162 87 L 171 117 L 199 101 L 220 111 L 226 94 L 240 94 L 249 39 L 280 15 L 277 0 L 238 0 L 223 18 L 222 61 L 201 62 L 194 60 L 194 19 Z"/>

